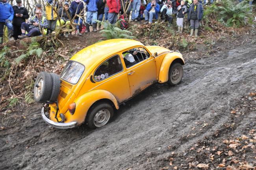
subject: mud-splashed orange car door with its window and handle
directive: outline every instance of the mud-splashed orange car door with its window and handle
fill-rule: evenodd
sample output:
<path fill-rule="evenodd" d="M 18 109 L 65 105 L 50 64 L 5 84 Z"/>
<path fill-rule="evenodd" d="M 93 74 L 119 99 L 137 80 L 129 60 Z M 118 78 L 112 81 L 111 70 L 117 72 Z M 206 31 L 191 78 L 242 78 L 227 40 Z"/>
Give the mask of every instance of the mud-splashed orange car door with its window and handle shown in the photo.
<path fill-rule="evenodd" d="M 157 81 L 154 57 L 150 56 L 145 48 L 136 47 L 125 50 L 122 52 L 122 58 L 132 96 Z"/>

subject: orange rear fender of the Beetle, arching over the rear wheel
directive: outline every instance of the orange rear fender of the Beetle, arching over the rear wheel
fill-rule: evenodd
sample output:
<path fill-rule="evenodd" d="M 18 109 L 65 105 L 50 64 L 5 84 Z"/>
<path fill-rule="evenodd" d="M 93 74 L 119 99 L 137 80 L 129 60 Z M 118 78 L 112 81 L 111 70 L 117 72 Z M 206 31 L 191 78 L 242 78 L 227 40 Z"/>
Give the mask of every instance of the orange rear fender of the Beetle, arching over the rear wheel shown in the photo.
<path fill-rule="evenodd" d="M 97 101 L 106 99 L 110 100 L 113 105 L 115 105 L 116 109 L 119 109 L 119 104 L 117 102 L 117 99 L 115 96 L 106 90 L 93 90 L 89 91 L 83 95 L 81 95 L 79 98 L 74 100 L 76 103 L 76 111 L 73 116 L 78 116 L 76 119 L 78 124 L 82 124 L 85 120 L 85 117 L 87 115 L 88 110 L 90 107 Z M 79 120 L 78 120 L 79 119 Z"/>

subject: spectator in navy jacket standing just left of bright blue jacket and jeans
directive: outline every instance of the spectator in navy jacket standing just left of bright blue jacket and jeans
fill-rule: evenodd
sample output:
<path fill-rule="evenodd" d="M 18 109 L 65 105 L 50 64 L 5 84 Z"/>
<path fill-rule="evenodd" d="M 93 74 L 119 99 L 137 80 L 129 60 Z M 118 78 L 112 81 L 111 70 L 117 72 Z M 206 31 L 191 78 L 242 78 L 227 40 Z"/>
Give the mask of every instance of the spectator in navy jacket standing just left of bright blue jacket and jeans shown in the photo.
<path fill-rule="evenodd" d="M 72 18 L 75 17 L 74 23 L 78 24 L 76 25 L 76 35 L 82 35 L 79 32 L 79 26 L 82 26 L 83 20 L 82 18 L 78 17 L 77 15 L 82 16 L 83 15 L 83 2 L 80 0 L 74 0 L 71 2 L 70 11 L 72 13 Z"/>

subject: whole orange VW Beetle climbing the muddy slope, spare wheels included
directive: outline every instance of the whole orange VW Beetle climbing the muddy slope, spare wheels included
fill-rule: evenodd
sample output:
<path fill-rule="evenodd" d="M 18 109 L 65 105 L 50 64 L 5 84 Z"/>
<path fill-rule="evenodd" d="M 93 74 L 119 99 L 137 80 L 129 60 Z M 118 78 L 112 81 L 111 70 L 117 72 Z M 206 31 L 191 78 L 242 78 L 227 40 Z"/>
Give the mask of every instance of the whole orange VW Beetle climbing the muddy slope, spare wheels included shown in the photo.
<path fill-rule="evenodd" d="M 182 54 L 167 48 L 130 39 L 102 41 L 70 58 L 60 77 L 39 73 L 34 98 L 45 103 L 41 113 L 50 126 L 102 127 L 114 109 L 153 83 L 180 83 L 182 65 Z"/>

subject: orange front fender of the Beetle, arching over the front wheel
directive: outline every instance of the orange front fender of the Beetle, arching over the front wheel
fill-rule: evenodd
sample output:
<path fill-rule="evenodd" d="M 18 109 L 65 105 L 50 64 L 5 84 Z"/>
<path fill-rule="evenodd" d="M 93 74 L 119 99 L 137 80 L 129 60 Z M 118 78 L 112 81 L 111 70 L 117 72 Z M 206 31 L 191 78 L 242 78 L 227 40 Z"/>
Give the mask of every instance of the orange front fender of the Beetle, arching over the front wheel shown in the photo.
<path fill-rule="evenodd" d="M 176 62 L 181 63 L 182 65 L 185 64 L 182 54 L 179 52 L 171 52 L 165 55 L 159 70 L 158 83 L 165 83 L 168 81 L 169 68 L 172 63 Z"/>

